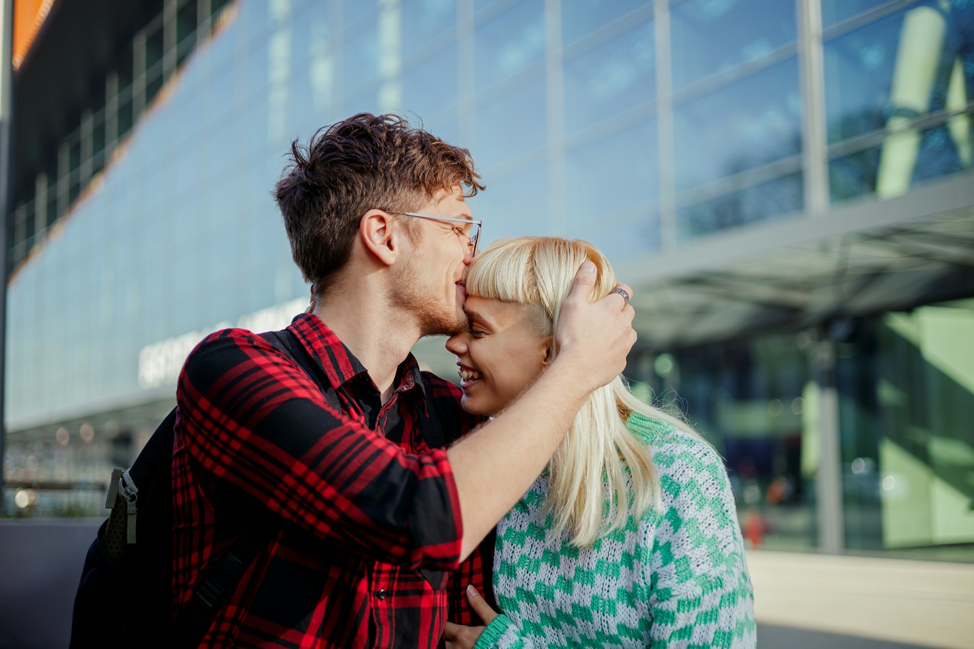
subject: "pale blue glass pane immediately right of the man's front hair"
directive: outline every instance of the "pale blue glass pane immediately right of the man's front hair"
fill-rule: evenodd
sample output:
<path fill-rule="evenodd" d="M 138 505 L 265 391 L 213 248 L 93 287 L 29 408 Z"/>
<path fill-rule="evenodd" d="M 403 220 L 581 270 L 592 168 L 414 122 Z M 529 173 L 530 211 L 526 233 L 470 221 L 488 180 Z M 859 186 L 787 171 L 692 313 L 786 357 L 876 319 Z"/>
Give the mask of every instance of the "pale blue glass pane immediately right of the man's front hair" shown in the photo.
<path fill-rule="evenodd" d="M 482 170 L 544 146 L 544 79 L 477 109 L 474 160 Z"/>

